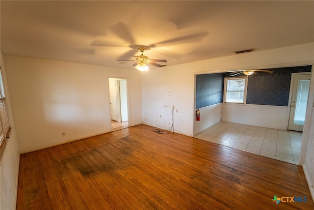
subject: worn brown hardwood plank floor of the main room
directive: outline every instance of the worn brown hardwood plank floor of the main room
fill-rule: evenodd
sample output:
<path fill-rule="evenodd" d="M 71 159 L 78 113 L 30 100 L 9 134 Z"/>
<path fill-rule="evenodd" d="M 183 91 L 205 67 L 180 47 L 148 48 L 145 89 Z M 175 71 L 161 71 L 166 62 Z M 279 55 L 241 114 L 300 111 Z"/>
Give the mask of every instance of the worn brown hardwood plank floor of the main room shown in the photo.
<path fill-rule="evenodd" d="M 22 154 L 17 209 L 314 209 L 297 165 L 152 129 Z"/>

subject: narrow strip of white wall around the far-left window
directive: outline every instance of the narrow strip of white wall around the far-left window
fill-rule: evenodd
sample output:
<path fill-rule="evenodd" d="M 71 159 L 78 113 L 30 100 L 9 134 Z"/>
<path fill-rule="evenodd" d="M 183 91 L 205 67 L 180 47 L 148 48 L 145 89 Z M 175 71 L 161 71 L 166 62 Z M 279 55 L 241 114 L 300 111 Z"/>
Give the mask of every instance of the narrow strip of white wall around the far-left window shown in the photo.
<path fill-rule="evenodd" d="M 11 135 L 10 138 L 7 139 L 5 147 L 2 149 L 3 153 L 0 160 L 0 210 L 14 210 L 16 207 L 18 190 L 20 152 L 15 132 L 14 120 L 12 117 L 10 94 L 7 91 L 6 69 L 5 63 L 2 59 L 2 53 L 0 57 L 5 98 L 11 123 Z"/>

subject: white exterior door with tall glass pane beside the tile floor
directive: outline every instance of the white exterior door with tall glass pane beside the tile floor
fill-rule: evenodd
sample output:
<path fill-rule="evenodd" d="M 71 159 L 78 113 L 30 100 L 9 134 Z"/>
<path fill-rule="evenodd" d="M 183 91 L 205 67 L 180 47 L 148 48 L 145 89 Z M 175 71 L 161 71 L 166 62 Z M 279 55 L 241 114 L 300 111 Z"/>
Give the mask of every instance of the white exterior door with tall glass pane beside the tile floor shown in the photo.
<path fill-rule="evenodd" d="M 292 74 L 291 76 L 292 96 L 288 130 L 303 131 L 310 79 L 310 73 Z"/>

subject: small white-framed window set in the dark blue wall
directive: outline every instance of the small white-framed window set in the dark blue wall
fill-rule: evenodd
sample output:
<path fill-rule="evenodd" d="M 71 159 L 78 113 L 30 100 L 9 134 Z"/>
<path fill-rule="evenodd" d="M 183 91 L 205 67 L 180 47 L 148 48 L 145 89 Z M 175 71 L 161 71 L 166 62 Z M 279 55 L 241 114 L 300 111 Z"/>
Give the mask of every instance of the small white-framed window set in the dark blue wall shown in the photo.
<path fill-rule="evenodd" d="M 226 77 L 224 87 L 225 103 L 246 103 L 247 77 Z"/>

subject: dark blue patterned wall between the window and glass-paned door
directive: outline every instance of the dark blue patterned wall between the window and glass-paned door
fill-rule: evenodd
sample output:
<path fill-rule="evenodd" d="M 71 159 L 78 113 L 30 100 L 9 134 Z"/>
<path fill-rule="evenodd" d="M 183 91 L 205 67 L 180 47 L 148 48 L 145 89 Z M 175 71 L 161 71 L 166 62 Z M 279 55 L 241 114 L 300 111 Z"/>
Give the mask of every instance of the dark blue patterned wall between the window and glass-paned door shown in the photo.
<path fill-rule="evenodd" d="M 273 68 L 268 70 L 274 73 L 255 72 L 249 76 L 246 96 L 247 104 L 288 106 L 291 74 L 311 72 L 312 66 Z"/>

